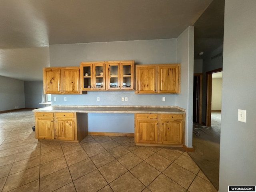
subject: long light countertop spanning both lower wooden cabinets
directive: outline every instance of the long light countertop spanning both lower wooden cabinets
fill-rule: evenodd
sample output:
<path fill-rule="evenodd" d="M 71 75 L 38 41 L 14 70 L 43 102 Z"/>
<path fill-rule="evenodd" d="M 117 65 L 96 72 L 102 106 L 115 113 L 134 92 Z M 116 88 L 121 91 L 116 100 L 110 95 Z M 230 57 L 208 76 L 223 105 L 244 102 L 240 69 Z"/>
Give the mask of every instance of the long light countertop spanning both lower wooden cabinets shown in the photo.
<path fill-rule="evenodd" d="M 178 106 L 49 106 L 33 112 L 184 114 Z"/>

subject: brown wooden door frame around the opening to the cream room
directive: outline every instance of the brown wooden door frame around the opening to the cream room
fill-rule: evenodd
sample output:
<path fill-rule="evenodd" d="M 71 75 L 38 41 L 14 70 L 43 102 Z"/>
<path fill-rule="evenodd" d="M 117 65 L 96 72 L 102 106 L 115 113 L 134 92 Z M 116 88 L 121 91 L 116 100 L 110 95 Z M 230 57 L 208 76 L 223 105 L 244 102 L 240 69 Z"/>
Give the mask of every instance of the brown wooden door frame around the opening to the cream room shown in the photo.
<path fill-rule="evenodd" d="M 212 114 L 212 74 L 221 72 L 222 68 L 206 72 L 207 94 L 206 94 L 206 126 L 211 126 Z"/>

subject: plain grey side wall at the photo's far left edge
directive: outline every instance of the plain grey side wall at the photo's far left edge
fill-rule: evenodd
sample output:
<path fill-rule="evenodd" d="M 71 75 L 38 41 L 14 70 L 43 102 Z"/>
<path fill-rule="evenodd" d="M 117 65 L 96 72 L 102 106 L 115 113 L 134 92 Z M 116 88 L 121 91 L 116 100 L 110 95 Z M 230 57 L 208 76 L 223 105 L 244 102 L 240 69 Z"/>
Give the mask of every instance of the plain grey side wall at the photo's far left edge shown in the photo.
<path fill-rule="evenodd" d="M 0 111 L 24 108 L 24 81 L 0 76 L 0 82 Z"/>

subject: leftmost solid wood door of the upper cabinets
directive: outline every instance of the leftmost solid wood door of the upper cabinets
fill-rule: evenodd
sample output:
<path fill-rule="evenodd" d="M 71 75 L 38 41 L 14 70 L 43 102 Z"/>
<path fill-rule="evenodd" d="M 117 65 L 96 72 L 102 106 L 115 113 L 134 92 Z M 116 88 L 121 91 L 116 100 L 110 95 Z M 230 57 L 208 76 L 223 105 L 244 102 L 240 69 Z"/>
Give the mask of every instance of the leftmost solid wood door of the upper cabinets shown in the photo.
<path fill-rule="evenodd" d="M 45 94 L 60 94 L 61 79 L 60 69 L 46 68 L 43 70 L 44 93 Z"/>

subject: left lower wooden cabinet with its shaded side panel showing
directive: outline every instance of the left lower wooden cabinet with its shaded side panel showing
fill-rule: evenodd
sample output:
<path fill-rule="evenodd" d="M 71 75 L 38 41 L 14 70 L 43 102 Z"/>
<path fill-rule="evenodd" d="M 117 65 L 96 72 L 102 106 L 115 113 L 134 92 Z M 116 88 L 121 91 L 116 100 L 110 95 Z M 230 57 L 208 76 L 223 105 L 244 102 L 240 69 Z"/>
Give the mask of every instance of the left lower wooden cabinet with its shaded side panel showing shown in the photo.
<path fill-rule="evenodd" d="M 35 112 L 38 139 L 80 142 L 88 133 L 88 114 L 71 112 Z"/>

